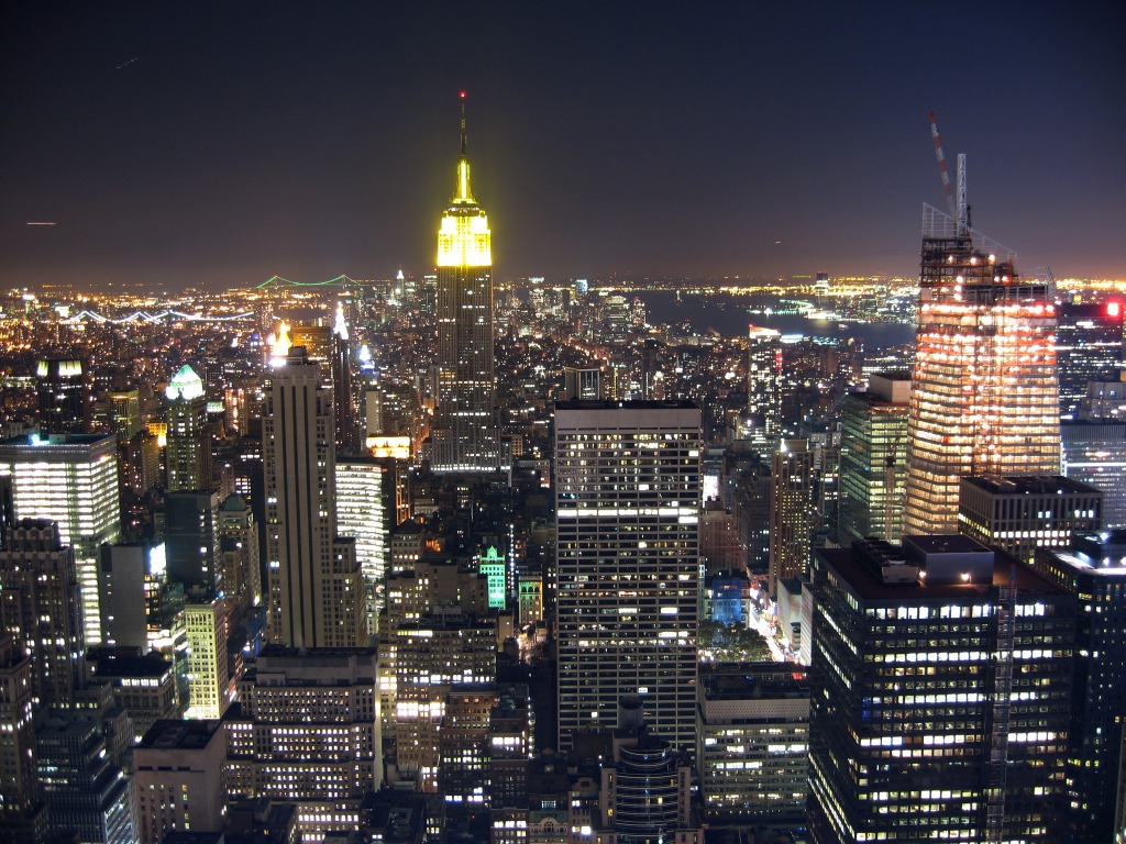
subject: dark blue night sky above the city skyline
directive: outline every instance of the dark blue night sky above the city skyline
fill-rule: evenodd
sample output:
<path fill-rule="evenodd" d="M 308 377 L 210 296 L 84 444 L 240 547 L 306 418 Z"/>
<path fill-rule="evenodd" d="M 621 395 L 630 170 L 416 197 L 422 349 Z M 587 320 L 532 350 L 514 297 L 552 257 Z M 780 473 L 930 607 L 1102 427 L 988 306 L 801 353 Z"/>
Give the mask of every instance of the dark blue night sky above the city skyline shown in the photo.
<path fill-rule="evenodd" d="M 427 271 L 463 89 L 499 279 L 914 275 L 929 109 L 1018 269 L 1123 278 L 1126 12 L 1072 7 L 6 3 L 0 284 Z"/>

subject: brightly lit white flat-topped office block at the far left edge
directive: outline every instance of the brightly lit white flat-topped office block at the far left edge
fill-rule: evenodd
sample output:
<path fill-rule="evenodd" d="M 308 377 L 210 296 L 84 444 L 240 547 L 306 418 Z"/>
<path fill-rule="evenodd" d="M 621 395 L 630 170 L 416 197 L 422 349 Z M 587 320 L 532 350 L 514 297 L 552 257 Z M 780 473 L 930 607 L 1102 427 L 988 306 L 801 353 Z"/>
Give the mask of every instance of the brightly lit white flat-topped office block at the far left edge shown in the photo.
<path fill-rule="evenodd" d="M 74 549 L 86 644 L 100 644 L 98 547 L 120 536 L 114 436 L 30 434 L 5 440 L 0 477 L 10 478 L 17 520 L 55 522 L 59 540 Z"/>

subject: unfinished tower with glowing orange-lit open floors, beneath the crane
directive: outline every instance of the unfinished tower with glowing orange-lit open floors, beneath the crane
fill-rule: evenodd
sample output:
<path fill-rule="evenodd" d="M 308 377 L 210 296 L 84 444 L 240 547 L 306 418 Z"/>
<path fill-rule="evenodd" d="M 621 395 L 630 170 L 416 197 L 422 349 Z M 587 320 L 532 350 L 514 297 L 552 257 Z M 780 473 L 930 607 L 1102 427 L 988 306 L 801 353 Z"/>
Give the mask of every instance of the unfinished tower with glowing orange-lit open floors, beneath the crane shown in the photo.
<path fill-rule="evenodd" d="M 926 206 L 908 422 L 905 533 L 954 533 L 967 475 L 1057 475 L 1051 281 Z"/>

